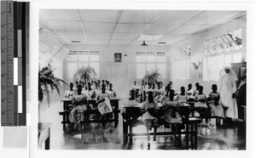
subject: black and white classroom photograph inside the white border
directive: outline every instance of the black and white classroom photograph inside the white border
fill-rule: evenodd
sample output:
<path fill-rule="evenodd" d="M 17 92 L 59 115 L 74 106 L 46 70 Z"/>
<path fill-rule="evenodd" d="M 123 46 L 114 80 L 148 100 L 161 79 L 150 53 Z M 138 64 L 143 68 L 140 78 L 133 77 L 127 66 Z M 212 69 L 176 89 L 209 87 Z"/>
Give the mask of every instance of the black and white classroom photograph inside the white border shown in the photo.
<path fill-rule="evenodd" d="M 41 8 L 38 22 L 39 150 L 247 150 L 246 10 Z"/>

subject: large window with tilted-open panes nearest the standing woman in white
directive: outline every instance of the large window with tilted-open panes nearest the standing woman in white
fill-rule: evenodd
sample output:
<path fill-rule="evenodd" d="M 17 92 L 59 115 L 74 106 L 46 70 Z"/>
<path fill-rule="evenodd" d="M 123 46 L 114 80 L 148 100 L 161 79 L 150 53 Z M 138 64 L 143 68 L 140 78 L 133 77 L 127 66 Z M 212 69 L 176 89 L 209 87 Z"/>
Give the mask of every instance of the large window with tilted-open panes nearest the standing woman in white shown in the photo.
<path fill-rule="evenodd" d="M 241 48 L 241 29 L 205 41 L 202 79 L 218 81 L 219 72 L 224 66 L 241 62 Z"/>

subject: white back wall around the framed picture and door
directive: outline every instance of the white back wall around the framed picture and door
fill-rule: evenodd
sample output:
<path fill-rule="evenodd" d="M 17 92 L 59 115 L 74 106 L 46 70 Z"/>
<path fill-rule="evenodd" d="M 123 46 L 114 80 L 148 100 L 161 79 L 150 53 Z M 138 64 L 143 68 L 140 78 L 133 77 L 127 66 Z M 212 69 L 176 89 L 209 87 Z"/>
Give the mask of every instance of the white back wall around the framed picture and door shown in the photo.
<path fill-rule="evenodd" d="M 122 53 L 122 62 L 119 65 L 127 64 L 128 65 L 128 78 L 129 78 L 129 87 L 133 81 L 141 83 L 140 80 L 137 80 L 137 67 L 136 67 L 136 53 L 138 51 L 169 51 L 169 46 L 127 46 L 125 45 L 84 45 L 84 44 L 66 44 L 64 45 L 68 50 L 99 50 L 100 51 L 100 78 L 107 79 L 107 65 L 108 63 L 114 63 L 114 53 Z M 124 57 L 127 54 L 128 57 Z M 116 63 L 115 63 L 116 64 Z M 166 79 L 164 82 L 169 82 L 169 61 L 166 62 Z M 67 74 L 65 71 L 67 67 L 63 65 L 64 70 L 64 79 L 67 80 Z M 68 81 L 70 82 L 70 81 Z M 66 87 L 67 88 L 67 87 Z"/>

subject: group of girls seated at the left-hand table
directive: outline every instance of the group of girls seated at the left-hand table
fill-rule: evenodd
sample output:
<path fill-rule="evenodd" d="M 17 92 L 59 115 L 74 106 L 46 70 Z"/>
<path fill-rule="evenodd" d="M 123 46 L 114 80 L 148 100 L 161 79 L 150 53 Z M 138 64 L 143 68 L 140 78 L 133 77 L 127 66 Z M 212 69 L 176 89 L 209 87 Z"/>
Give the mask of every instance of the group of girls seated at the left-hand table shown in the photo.
<path fill-rule="evenodd" d="M 106 84 L 105 84 L 106 83 Z M 112 97 L 116 97 L 113 91 L 112 83 L 102 80 L 98 82 L 75 82 L 76 87 L 73 88 L 73 82 L 70 83 L 69 89 L 64 93 L 66 98 L 73 100 L 73 106 L 67 110 L 69 112 L 68 119 L 74 123 L 74 127 L 78 127 L 80 121 L 84 121 L 84 111 L 93 109 L 92 105 L 87 104 L 88 99 L 96 99 L 96 104 L 102 104 Z M 99 85 L 101 85 L 99 87 Z M 102 115 L 102 118 L 109 117 L 109 113 Z M 103 125 L 104 127 L 105 125 Z"/>

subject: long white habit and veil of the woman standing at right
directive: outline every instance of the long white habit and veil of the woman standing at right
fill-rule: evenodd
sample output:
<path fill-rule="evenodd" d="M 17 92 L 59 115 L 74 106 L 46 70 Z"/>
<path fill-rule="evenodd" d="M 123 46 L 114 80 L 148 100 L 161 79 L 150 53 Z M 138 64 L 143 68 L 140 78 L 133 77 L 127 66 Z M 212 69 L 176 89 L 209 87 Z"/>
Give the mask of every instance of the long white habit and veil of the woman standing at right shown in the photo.
<path fill-rule="evenodd" d="M 226 116 L 231 118 L 238 118 L 236 99 L 232 98 L 232 94 L 236 92 L 236 81 L 236 74 L 225 73 L 221 76 L 218 87 L 221 104 L 228 107 Z"/>

